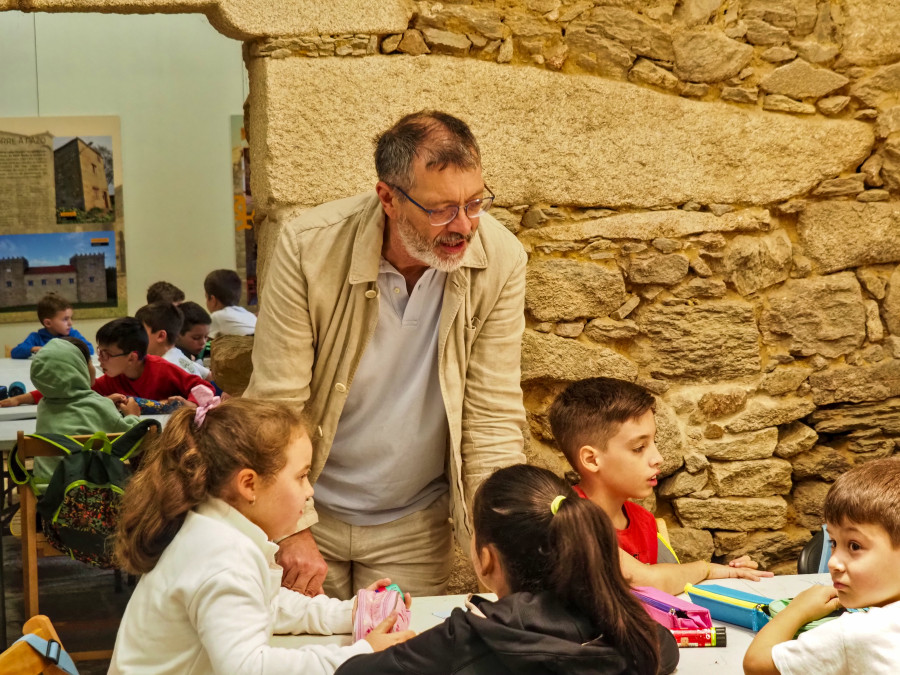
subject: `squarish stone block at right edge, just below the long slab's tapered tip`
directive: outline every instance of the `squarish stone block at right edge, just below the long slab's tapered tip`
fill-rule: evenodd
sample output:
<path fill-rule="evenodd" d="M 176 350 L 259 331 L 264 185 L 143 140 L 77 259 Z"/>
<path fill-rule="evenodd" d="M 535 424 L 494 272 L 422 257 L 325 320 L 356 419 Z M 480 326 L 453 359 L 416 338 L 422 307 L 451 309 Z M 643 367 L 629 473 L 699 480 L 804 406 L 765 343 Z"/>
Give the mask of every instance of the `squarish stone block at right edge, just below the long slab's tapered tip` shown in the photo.
<path fill-rule="evenodd" d="M 804 254 L 823 272 L 900 261 L 898 231 L 896 202 L 812 202 L 797 224 Z"/>

